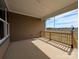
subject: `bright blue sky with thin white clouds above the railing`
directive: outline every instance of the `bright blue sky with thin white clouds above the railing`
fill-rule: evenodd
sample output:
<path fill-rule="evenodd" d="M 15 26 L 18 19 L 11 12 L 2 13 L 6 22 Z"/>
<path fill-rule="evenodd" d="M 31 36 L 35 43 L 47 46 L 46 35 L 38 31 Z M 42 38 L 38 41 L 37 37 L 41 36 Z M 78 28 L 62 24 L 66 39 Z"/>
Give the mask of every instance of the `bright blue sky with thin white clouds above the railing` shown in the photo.
<path fill-rule="evenodd" d="M 45 26 L 46 28 L 78 27 L 78 9 L 57 15 L 55 17 L 48 18 L 45 24 L 46 24 Z"/>

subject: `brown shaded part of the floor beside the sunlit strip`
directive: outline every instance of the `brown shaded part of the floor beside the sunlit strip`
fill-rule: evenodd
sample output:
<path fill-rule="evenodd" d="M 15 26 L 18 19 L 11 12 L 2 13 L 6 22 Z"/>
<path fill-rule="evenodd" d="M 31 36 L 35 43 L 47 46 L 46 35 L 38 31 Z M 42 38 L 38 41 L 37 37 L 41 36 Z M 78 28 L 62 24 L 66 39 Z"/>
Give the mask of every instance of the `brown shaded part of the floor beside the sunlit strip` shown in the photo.
<path fill-rule="evenodd" d="M 22 40 L 12 43 L 4 59 L 50 59 L 37 48 L 32 41 L 33 40 Z"/>

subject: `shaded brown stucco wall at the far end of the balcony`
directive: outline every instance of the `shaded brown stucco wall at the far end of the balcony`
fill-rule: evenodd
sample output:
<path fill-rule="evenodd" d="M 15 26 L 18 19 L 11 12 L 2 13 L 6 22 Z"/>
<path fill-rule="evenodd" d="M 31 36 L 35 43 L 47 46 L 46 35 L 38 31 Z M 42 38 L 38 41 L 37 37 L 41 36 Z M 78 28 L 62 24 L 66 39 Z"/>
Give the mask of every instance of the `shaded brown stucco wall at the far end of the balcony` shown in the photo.
<path fill-rule="evenodd" d="M 31 16 L 9 13 L 8 21 L 10 23 L 11 41 L 39 37 L 40 31 L 44 30 L 41 19 Z"/>

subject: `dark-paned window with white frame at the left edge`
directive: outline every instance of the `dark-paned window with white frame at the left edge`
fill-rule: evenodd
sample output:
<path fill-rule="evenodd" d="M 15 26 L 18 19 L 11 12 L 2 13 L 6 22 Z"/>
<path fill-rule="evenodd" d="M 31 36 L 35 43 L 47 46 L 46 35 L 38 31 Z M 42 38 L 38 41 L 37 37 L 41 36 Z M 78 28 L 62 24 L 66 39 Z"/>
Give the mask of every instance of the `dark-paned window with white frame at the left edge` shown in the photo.
<path fill-rule="evenodd" d="M 0 0 L 0 40 L 9 36 L 9 24 L 7 22 L 7 8 L 4 0 Z"/>

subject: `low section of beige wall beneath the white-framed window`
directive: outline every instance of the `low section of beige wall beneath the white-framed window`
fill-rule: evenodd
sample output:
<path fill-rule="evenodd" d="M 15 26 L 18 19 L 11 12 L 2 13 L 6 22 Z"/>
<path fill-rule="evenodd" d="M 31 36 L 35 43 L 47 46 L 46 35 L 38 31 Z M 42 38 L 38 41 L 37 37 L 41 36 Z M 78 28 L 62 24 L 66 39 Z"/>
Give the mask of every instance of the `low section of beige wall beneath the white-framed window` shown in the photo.
<path fill-rule="evenodd" d="M 3 59 L 8 46 L 9 46 L 9 38 L 3 44 L 0 45 L 0 59 Z"/>

